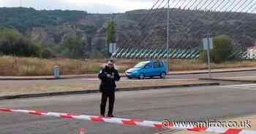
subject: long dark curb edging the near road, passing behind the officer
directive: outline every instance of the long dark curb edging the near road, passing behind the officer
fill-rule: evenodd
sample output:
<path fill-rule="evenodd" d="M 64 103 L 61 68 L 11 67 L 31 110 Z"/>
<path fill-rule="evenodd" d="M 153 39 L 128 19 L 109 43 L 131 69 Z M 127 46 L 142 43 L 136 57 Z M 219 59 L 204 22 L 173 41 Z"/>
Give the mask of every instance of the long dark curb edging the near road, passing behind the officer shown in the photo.
<path fill-rule="evenodd" d="M 136 90 L 153 90 L 162 88 L 176 88 L 176 87 L 201 87 L 201 86 L 214 86 L 219 85 L 219 83 L 203 83 L 203 84 L 181 84 L 181 85 L 169 85 L 169 86 L 156 86 L 156 87 L 126 87 L 117 88 L 117 92 L 121 91 L 136 91 Z M 57 96 L 57 95 L 78 95 L 78 94 L 89 94 L 97 93 L 99 90 L 80 90 L 80 91 L 68 91 L 68 92 L 48 92 L 48 93 L 37 93 L 37 94 L 24 94 L 24 95 L 6 95 L 0 96 L 0 100 L 10 100 L 17 98 L 39 98 L 47 96 Z"/>

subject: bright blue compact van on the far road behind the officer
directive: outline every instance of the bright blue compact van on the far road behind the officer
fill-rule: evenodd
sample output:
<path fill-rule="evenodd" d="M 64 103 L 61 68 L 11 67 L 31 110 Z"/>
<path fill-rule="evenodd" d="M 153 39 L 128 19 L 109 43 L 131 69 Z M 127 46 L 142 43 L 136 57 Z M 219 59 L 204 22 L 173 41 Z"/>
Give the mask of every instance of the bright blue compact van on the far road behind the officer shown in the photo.
<path fill-rule="evenodd" d="M 163 60 L 147 60 L 135 65 L 133 68 L 125 71 L 126 76 L 130 78 L 145 79 L 159 76 L 165 78 L 167 74 L 167 65 Z"/>

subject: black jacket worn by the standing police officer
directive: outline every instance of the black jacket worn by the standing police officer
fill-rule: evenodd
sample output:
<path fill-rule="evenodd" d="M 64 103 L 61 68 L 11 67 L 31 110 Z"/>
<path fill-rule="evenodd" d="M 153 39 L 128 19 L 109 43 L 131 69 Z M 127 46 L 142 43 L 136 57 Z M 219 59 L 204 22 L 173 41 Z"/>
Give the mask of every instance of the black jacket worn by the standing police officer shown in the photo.
<path fill-rule="evenodd" d="M 108 78 L 107 74 L 112 75 L 113 78 Z M 99 85 L 100 92 L 115 92 L 116 82 L 120 80 L 118 71 L 115 68 L 108 68 L 108 66 L 105 66 L 105 68 L 103 68 L 99 72 L 98 77 L 99 79 L 101 79 L 101 82 Z"/>

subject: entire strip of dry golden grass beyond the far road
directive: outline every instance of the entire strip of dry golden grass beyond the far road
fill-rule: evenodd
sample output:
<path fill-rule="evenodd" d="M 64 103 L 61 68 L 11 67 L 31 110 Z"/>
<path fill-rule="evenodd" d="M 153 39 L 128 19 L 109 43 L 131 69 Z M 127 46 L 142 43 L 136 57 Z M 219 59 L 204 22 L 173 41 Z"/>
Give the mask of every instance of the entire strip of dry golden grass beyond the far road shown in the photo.
<path fill-rule="evenodd" d="M 135 66 L 141 60 L 116 60 L 116 68 L 120 72 Z M 46 76 L 53 75 L 53 66 L 59 66 L 61 75 L 67 74 L 93 74 L 97 73 L 105 63 L 105 59 L 40 59 L 0 57 L 0 76 Z M 256 66 L 255 61 L 236 61 L 221 64 L 211 64 L 211 68 L 237 68 Z M 206 69 L 206 63 L 199 60 L 170 60 L 170 70 L 187 71 Z"/>

